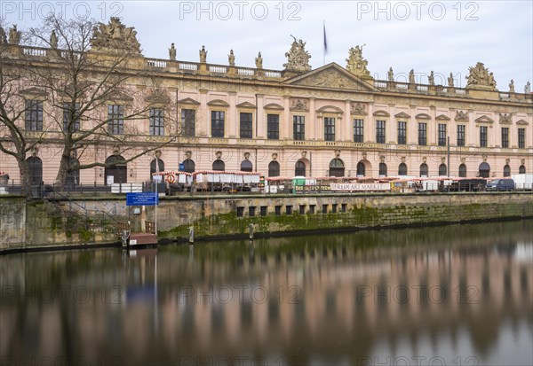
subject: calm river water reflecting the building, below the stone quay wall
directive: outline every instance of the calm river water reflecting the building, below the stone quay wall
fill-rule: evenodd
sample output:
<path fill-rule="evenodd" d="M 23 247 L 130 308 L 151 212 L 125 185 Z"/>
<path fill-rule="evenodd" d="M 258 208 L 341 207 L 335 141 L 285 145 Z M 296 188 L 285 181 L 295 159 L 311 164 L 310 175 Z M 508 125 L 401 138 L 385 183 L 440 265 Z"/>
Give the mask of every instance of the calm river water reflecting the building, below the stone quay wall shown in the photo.
<path fill-rule="evenodd" d="M 531 365 L 533 221 L 0 256 L 4 365 Z"/>

